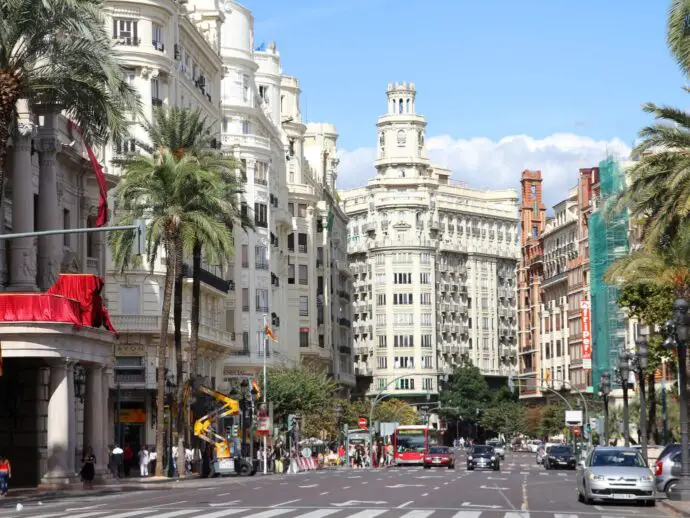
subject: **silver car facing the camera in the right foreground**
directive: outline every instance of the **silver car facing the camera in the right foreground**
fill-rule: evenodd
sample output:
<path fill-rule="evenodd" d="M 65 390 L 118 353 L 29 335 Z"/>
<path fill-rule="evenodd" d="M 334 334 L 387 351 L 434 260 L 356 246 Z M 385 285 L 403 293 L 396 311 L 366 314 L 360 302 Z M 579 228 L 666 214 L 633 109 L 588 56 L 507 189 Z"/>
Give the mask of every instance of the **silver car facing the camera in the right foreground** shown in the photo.
<path fill-rule="evenodd" d="M 634 448 L 594 448 L 578 465 L 577 491 L 588 505 L 595 500 L 656 505 L 654 476 Z"/>

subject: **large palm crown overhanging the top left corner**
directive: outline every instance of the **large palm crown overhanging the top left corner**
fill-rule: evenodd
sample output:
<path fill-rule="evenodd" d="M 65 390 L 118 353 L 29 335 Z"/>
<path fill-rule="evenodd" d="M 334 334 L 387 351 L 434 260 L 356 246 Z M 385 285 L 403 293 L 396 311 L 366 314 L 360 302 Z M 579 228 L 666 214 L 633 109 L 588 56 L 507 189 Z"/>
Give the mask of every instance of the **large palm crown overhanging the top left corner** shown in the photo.
<path fill-rule="evenodd" d="M 127 132 L 140 106 L 116 60 L 101 0 L 0 2 L 0 213 L 17 103 L 64 110 L 91 143 Z"/>

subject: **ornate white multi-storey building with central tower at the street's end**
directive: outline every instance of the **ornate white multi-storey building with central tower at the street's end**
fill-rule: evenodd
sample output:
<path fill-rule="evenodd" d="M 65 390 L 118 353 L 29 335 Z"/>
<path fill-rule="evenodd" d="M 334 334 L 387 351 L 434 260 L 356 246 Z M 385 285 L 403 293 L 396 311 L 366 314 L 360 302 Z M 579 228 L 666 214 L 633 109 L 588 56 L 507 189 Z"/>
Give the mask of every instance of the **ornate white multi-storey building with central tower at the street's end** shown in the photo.
<path fill-rule="evenodd" d="M 388 85 L 376 177 L 341 192 L 350 218 L 355 368 L 366 393 L 436 398 L 470 360 L 517 374 L 517 193 L 479 191 L 431 164 L 414 84 Z"/>

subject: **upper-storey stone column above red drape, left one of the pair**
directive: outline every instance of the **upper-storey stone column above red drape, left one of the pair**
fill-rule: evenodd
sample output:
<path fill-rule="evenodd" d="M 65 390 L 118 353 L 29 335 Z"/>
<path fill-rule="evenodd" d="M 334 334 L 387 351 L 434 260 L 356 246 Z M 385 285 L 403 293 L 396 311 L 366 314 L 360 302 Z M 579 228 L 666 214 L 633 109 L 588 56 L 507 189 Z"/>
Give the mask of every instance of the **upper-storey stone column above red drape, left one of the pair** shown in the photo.
<path fill-rule="evenodd" d="M 34 231 L 34 189 L 31 142 L 34 125 L 21 109 L 18 135 L 13 139 L 12 159 L 12 233 Z M 36 239 L 13 239 L 8 291 L 36 291 Z"/>

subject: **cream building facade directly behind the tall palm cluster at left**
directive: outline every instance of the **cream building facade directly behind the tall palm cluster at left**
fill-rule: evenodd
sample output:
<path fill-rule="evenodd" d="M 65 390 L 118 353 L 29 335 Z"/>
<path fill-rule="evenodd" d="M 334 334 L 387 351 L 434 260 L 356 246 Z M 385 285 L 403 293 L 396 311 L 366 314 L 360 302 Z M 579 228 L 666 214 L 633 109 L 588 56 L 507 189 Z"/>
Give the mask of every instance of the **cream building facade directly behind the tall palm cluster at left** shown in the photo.
<path fill-rule="evenodd" d="M 212 131 L 219 133 L 221 121 L 220 28 L 225 12 L 220 2 L 138 1 L 106 2 L 106 24 L 112 31 L 114 50 L 124 63 L 130 84 L 140 94 L 143 115 L 151 121 L 156 107 L 198 108 Z M 105 148 L 102 159 L 115 178 L 121 170 L 113 159 L 124 153 L 145 152 L 137 142 L 148 136 L 141 124 L 133 124 L 130 138 Z M 112 204 L 111 204 L 112 206 Z M 117 207 L 114 207 L 117 210 Z M 183 291 L 183 357 L 187 358 L 191 310 L 191 259 L 185 264 Z M 152 273 L 152 274 L 151 274 Z M 120 338 L 115 345 L 113 399 L 120 412 L 110 431 L 110 443 L 121 446 L 155 443 L 155 390 L 160 340 L 161 305 L 165 266 L 142 264 L 125 273 L 107 254 L 105 297 Z M 194 373 L 215 387 L 219 385 L 225 358 L 235 349 L 234 277 L 227 265 L 202 265 L 198 370 Z M 165 369 L 174 373 L 172 318 L 168 335 Z"/>

